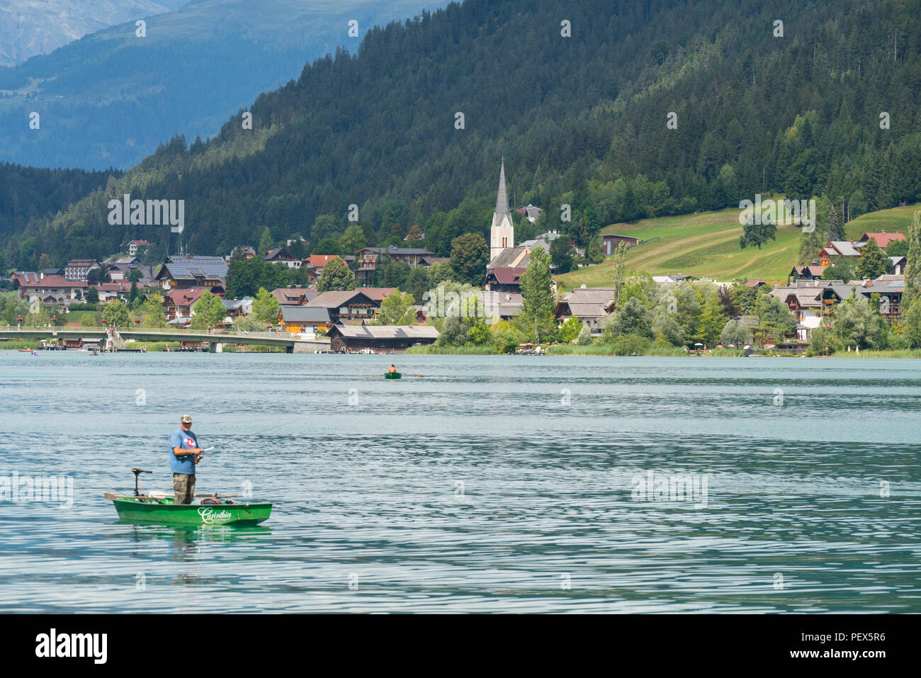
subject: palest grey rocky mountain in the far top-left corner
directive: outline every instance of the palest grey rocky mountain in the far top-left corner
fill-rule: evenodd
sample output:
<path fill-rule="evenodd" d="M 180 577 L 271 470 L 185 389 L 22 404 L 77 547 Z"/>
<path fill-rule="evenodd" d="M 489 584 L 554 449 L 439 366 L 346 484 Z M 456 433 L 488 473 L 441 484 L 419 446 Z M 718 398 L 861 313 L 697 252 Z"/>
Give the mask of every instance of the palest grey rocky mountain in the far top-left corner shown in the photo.
<path fill-rule="evenodd" d="M 87 33 L 178 9 L 189 0 L 0 0 L 0 66 L 52 53 Z"/>

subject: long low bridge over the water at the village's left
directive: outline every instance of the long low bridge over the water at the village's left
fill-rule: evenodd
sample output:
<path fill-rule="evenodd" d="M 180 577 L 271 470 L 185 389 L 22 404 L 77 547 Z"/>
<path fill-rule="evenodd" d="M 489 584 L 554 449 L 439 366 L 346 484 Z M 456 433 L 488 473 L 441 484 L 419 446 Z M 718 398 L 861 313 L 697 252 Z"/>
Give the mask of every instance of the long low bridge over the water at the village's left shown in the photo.
<path fill-rule="evenodd" d="M 242 344 L 281 346 L 286 353 L 313 353 L 330 350 L 330 342 L 325 339 L 304 338 L 300 334 L 286 332 L 251 332 L 246 334 L 232 332 L 206 333 L 201 330 L 179 330 L 136 328 L 119 330 L 122 339 L 134 339 L 139 342 L 191 342 L 208 345 L 208 350 L 216 353 L 219 345 Z M 10 328 L 0 329 L 0 340 L 5 339 L 98 339 L 105 341 L 104 327 L 72 327 L 64 329 Z M 2 343 L 0 343 L 2 346 Z"/>

